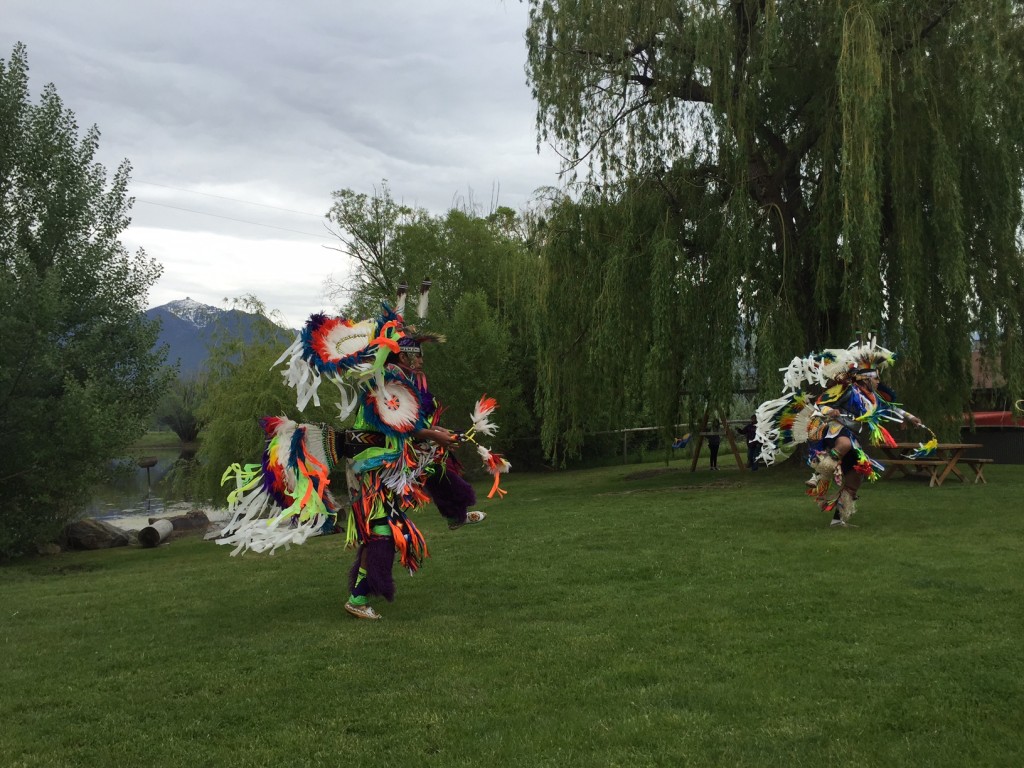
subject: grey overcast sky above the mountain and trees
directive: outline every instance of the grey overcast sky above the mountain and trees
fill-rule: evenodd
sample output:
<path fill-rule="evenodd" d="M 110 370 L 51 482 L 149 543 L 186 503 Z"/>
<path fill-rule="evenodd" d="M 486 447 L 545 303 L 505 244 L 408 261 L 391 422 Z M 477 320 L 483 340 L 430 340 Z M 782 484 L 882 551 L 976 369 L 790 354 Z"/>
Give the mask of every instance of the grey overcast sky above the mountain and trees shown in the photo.
<path fill-rule="evenodd" d="M 0 57 L 25 43 L 34 97 L 53 83 L 98 126 L 109 176 L 131 162 L 150 306 L 251 293 L 298 327 L 349 268 L 333 190 L 485 213 L 558 184 L 526 20 L 518 0 L 0 0 Z"/>

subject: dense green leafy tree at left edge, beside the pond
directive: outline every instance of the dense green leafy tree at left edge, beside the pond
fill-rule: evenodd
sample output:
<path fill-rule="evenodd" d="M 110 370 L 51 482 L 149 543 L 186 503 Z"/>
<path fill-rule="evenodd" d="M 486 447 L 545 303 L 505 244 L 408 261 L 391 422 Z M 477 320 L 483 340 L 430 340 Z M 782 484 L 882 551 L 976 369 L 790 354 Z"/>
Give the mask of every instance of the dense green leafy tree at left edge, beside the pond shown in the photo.
<path fill-rule="evenodd" d="M 118 240 L 129 166 L 108 184 L 24 46 L 0 59 L 0 556 L 52 540 L 145 431 L 171 372 L 144 319 L 160 266 Z"/>

